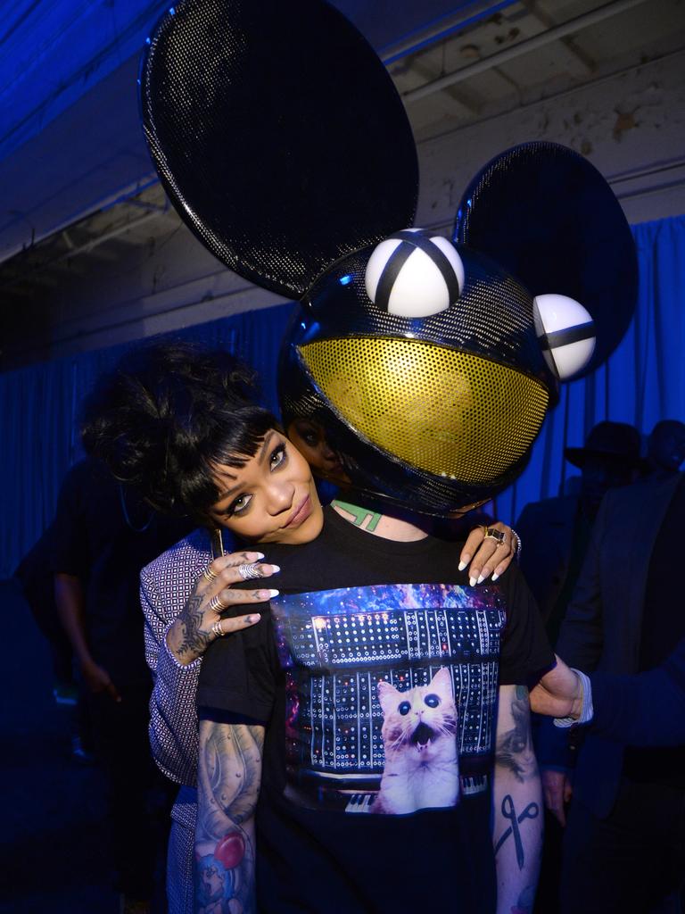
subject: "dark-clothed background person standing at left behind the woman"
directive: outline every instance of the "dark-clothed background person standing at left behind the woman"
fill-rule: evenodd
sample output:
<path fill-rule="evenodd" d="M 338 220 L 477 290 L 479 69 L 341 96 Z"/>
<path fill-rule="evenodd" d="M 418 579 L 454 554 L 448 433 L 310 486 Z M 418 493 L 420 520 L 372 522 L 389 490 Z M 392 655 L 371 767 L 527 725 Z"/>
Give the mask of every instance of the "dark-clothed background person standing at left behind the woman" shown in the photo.
<path fill-rule="evenodd" d="M 189 529 L 144 505 L 89 457 L 67 473 L 49 566 L 107 779 L 116 888 L 125 914 L 150 910 L 168 788 L 147 740 L 152 678 L 138 599 L 142 567 Z"/>

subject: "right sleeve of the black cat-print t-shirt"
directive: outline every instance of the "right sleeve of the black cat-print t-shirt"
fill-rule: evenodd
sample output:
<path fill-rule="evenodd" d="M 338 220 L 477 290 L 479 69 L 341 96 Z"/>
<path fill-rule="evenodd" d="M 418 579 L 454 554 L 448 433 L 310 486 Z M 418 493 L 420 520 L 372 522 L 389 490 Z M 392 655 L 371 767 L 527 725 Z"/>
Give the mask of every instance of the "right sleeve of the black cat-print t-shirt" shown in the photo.
<path fill-rule="evenodd" d="M 554 663 L 543 620 L 521 570 L 511 564 L 502 579 L 507 623 L 500 654 L 500 685 L 528 685 Z"/>

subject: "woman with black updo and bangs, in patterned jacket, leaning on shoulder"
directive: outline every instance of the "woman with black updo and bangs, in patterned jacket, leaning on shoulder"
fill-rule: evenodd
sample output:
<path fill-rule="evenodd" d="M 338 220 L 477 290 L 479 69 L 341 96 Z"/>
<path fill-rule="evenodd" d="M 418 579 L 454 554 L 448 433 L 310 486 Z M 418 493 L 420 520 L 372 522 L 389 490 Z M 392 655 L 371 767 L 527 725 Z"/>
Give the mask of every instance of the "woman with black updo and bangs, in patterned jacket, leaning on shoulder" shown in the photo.
<path fill-rule="evenodd" d="M 190 903 L 195 694 L 202 654 L 228 632 L 256 625 L 258 610 L 278 592 L 254 583 L 279 569 L 250 547 L 309 542 L 323 526 L 311 470 L 277 420 L 255 404 L 251 382 L 246 368 L 227 353 L 181 344 L 145 346 L 100 380 L 84 413 L 83 440 L 90 452 L 151 505 L 189 514 L 200 526 L 141 575 L 146 654 L 155 673 L 153 755 L 168 777 L 185 785 L 174 807 L 173 911 Z M 383 526 L 394 523 L 381 519 L 381 536 Z M 217 531 L 248 547 L 222 555 Z M 472 583 L 491 570 L 501 574 L 511 560 L 511 539 L 508 534 L 503 542 L 484 539 L 484 529 L 476 528 L 461 551 L 459 569 L 475 556 Z M 373 550 L 373 539 L 369 546 Z M 238 602 L 240 614 L 232 617 L 230 607 Z"/>

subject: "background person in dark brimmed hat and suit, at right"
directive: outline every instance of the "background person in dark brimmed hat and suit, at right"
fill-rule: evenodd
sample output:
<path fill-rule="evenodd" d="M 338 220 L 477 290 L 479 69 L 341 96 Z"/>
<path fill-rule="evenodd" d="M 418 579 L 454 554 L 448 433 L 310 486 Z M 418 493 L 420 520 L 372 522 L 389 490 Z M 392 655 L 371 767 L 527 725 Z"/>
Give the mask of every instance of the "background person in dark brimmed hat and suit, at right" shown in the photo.
<path fill-rule="evenodd" d="M 516 522 L 525 543 L 521 569 L 551 643 L 571 601 L 602 498 L 609 489 L 633 482 L 639 452 L 639 432 L 632 425 L 600 422 L 585 447 L 564 451 L 566 460 L 581 470 L 579 493 L 526 505 Z"/>

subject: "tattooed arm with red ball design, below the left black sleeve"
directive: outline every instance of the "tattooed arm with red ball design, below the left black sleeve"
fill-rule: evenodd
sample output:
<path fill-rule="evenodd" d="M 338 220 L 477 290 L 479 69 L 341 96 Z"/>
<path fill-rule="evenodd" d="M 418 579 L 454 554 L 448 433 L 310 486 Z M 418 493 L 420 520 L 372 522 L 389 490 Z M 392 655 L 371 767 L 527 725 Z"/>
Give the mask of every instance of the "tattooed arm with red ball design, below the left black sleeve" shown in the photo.
<path fill-rule="evenodd" d="M 200 724 L 195 911 L 255 910 L 254 813 L 264 728 Z"/>

